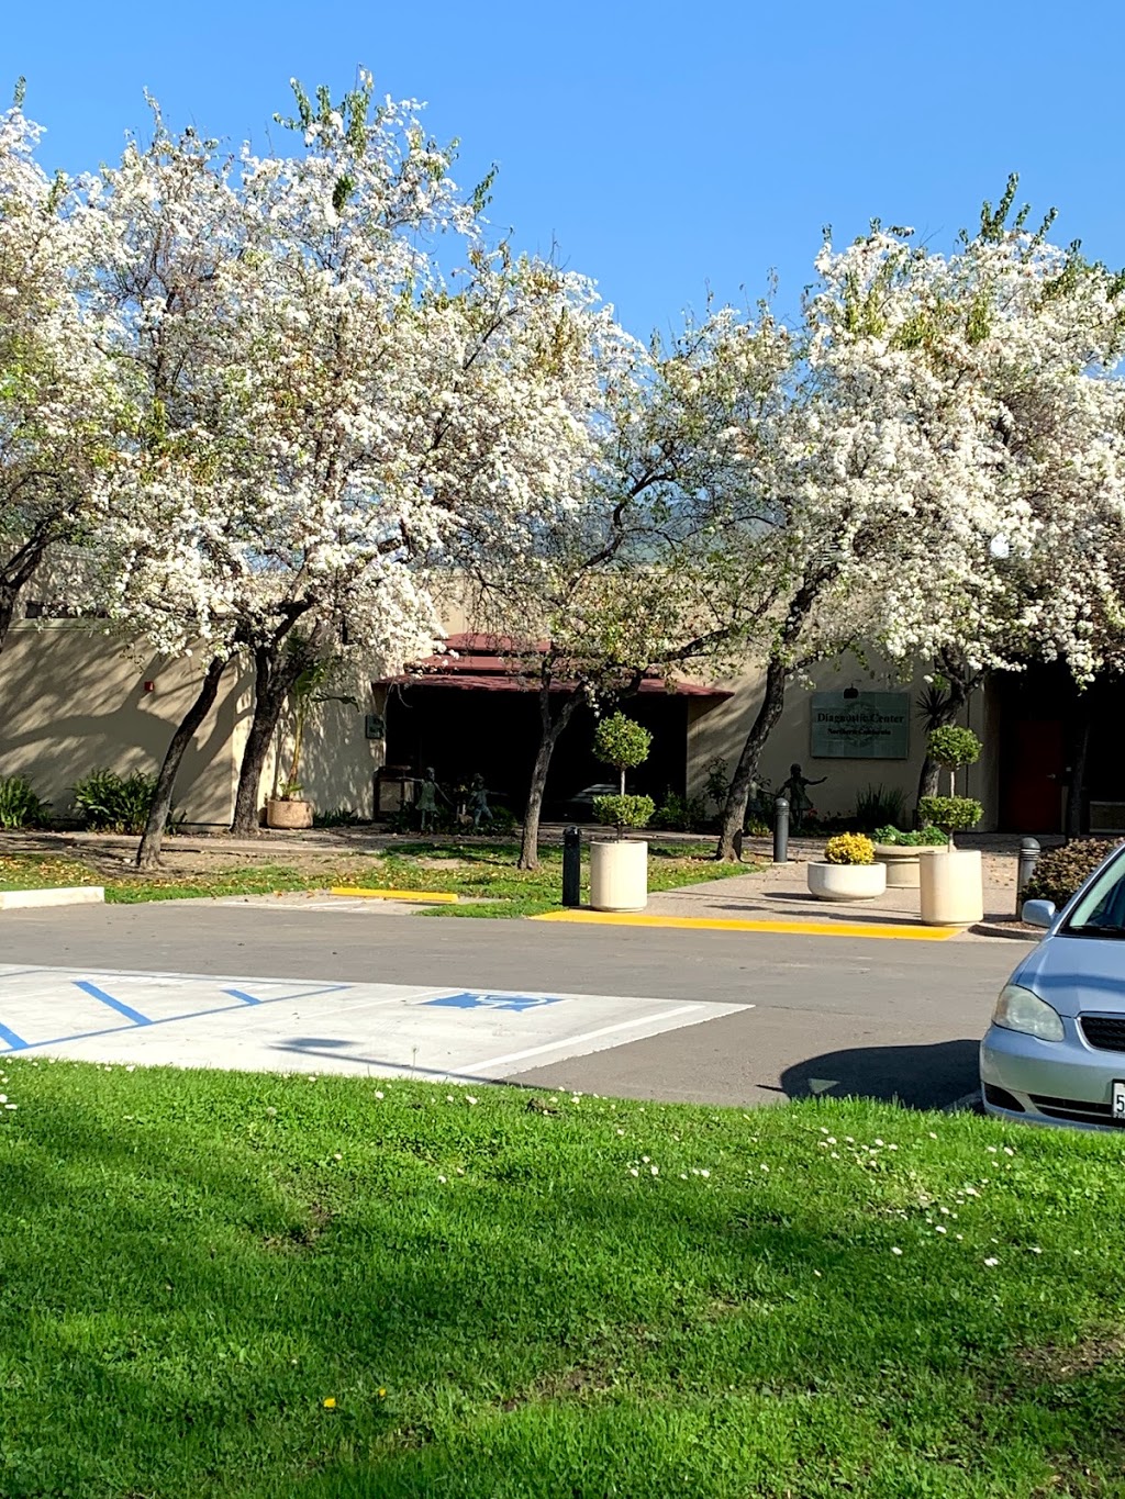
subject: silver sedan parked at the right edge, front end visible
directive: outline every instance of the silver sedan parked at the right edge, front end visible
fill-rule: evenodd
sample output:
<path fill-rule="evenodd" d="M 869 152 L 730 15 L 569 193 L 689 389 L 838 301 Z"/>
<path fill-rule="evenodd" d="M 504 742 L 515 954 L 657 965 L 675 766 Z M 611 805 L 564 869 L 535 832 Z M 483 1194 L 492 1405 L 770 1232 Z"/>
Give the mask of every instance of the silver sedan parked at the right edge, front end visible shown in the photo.
<path fill-rule="evenodd" d="M 1125 845 L 1056 911 L 1005 985 L 981 1042 L 988 1114 L 1077 1129 L 1125 1126 Z"/>

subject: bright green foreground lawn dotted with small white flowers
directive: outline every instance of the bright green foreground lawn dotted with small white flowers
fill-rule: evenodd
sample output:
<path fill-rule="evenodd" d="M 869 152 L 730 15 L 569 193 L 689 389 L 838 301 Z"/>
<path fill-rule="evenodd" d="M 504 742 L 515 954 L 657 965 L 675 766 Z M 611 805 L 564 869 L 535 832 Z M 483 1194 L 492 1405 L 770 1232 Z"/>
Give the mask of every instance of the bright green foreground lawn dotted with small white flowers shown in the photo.
<path fill-rule="evenodd" d="M 6 1499 L 1125 1493 L 1118 1138 L 46 1061 L 3 1091 Z"/>

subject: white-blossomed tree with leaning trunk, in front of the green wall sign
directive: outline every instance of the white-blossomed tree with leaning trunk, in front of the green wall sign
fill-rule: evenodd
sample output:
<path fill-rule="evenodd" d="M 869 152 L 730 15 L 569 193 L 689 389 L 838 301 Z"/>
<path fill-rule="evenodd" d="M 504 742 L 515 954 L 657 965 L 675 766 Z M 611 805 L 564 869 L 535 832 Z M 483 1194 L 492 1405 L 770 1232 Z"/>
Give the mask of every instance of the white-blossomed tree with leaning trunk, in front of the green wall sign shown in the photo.
<path fill-rule="evenodd" d="M 776 516 L 764 531 L 754 510 L 744 544 L 759 553 L 768 532 L 790 582 L 720 857 L 802 666 L 860 642 L 921 657 L 956 715 L 988 667 L 1058 654 L 1083 672 L 1095 658 L 1113 564 L 1107 552 L 1095 588 L 1100 559 L 1078 555 L 1092 507 L 1113 513 L 1119 489 L 1122 393 L 1102 376 L 1122 283 L 1052 246 L 1048 223 L 1029 232 L 1012 198 L 1014 183 L 950 256 L 874 225 L 818 259 L 790 399 L 747 433 Z"/>

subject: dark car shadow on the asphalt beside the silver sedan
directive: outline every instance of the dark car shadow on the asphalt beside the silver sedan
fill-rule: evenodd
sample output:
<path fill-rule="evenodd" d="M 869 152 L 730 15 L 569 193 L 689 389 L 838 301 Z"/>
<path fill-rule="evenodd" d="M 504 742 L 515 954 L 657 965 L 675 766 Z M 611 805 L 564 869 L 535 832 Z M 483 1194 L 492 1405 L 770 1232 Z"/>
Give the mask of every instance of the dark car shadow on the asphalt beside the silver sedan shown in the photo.
<path fill-rule="evenodd" d="M 880 1099 L 912 1109 L 944 1109 L 976 1091 L 978 1040 L 932 1046 L 855 1046 L 798 1061 L 782 1073 L 790 1099 Z"/>

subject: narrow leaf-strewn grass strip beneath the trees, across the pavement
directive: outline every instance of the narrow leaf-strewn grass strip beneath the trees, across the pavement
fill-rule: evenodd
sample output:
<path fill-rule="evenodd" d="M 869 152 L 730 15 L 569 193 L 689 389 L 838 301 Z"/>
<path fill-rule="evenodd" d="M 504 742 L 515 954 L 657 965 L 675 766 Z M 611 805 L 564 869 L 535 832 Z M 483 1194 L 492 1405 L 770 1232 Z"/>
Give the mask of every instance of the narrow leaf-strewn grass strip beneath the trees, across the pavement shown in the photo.
<path fill-rule="evenodd" d="M 746 874 L 752 865 L 716 863 L 711 845 L 650 844 L 650 889 L 669 890 L 699 880 Z M 244 865 L 208 875 L 105 875 L 76 859 L 45 854 L 0 856 L 0 889 L 104 884 L 106 901 L 162 901 L 206 895 L 270 895 L 362 884 L 396 890 L 453 890 L 477 905 L 430 907 L 430 916 L 534 916 L 561 904 L 562 850 L 544 848 L 534 872 L 516 868 L 516 844 L 396 845 L 386 854 L 339 856 L 315 869 L 284 863 Z M 584 865 L 584 890 L 586 889 Z"/>

